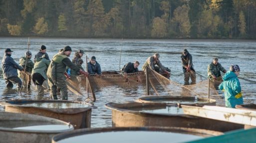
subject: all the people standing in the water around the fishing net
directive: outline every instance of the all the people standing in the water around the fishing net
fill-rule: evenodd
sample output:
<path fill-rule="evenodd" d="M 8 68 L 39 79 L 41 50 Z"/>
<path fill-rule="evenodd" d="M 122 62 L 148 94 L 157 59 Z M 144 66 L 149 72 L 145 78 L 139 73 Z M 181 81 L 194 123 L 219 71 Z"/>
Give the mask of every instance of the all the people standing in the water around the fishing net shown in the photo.
<path fill-rule="evenodd" d="M 32 54 L 30 51 L 25 53 L 25 56 L 19 59 L 19 65 L 11 58 L 11 51 L 9 48 L 5 49 L 4 57 L 2 59 L 2 71 L 3 78 L 5 79 L 6 87 L 12 87 L 13 83 L 17 84 L 18 89 L 21 88 L 21 80 L 23 74 L 26 72 L 31 73 L 31 78 L 39 96 L 43 96 L 44 89 L 49 89 L 50 98 L 57 98 L 57 89 L 60 89 L 62 100 L 67 100 L 67 85 L 65 80 L 75 78 L 79 74 L 88 76 L 89 74 L 101 75 L 100 64 L 96 62 L 96 57 L 92 56 L 90 62 L 87 64 L 88 72 L 82 68 L 84 54 L 83 50 L 78 50 L 74 54 L 72 62 L 69 60 L 72 49 L 70 46 L 66 46 L 59 50 L 59 53 L 54 55 L 52 60 L 49 60 L 49 56 L 46 53 L 46 47 L 41 46 L 39 52 L 34 57 L 34 63 L 31 61 Z M 164 67 L 160 60 L 158 53 L 148 57 L 145 64 L 142 67 L 144 71 L 146 67 L 156 72 L 164 72 L 170 75 L 170 70 Z M 189 84 L 191 78 L 191 84 L 196 83 L 196 71 L 192 62 L 192 55 L 187 49 L 184 49 L 181 55 L 184 84 Z M 127 73 L 138 72 L 140 63 L 135 61 L 134 63 L 127 63 L 122 73 L 127 79 Z M 19 70 L 20 74 L 17 74 Z M 241 86 L 238 79 L 240 68 L 238 65 L 232 65 L 230 71 L 226 71 L 222 65 L 218 62 L 218 58 L 214 58 L 213 62 L 208 65 L 208 78 L 211 80 L 217 80 L 221 77 L 221 71 L 226 73 L 223 76 L 223 82 L 220 84 L 219 89 L 225 90 L 225 100 L 227 107 L 235 107 L 237 104 L 243 104 L 243 96 L 241 93 Z M 65 75 L 65 76 L 63 76 Z M 30 82 L 26 83 L 27 88 L 30 87 Z"/>

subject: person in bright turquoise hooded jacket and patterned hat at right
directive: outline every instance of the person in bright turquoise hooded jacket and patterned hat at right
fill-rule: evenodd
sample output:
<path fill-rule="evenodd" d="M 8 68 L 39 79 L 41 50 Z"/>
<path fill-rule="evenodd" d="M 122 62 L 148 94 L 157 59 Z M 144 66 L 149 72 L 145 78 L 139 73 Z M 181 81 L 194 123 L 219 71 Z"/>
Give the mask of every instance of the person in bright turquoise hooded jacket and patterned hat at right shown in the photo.
<path fill-rule="evenodd" d="M 219 85 L 220 90 L 224 90 L 226 107 L 235 108 L 236 105 L 244 104 L 238 75 L 240 68 L 232 65 L 230 71 L 223 76 L 223 82 Z"/>

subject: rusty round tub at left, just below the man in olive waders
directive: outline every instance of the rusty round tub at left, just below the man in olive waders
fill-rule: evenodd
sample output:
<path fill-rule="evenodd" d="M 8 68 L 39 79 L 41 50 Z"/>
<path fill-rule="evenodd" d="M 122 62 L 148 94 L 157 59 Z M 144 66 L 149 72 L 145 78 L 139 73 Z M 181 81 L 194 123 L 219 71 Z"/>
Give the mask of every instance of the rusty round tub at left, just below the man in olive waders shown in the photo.
<path fill-rule="evenodd" d="M 47 103 L 48 105 L 46 105 Z M 62 108 L 58 104 L 61 104 L 60 106 L 75 104 L 79 107 Z M 5 106 L 6 112 L 35 114 L 70 122 L 75 129 L 90 128 L 91 126 L 92 105 L 89 103 L 67 100 L 16 99 L 1 101 L 0 105 Z"/>

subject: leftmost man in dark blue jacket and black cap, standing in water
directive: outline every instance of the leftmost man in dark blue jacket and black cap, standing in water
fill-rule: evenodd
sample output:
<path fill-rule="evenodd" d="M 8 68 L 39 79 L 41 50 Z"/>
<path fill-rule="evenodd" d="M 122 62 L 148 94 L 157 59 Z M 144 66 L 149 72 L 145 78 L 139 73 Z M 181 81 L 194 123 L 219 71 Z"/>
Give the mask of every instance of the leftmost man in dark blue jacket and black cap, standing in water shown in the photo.
<path fill-rule="evenodd" d="M 17 70 L 24 71 L 24 69 L 19 66 L 10 57 L 11 51 L 9 48 L 5 49 L 4 56 L 2 58 L 2 74 L 3 79 L 5 79 L 6 87 L 13 87 L 13 83 L 17 85 L 17 89 L 21 88 L 21 80 L 18 78 Z"/>

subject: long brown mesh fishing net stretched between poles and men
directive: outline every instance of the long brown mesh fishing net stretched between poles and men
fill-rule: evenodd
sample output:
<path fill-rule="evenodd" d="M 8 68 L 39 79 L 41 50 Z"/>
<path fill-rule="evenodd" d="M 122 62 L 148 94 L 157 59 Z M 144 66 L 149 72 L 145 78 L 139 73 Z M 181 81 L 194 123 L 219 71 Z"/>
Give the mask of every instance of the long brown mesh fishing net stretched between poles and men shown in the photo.
<path fill-rule="evenodd" d="M 147 73 L 150 95 L 208 97 L 208 92 L 210 92 L 211 96 L 217 96 L 219 95 L 217 90 L 218 85 L 222 82 L 221 77 L 217 80 L 210 80 L 209 82 L 208 79 L 199 75 L 196 77 L 196 84 L 183 85 L 168 79 L 168 75 L 166 73 L 158 73 L 150 68 L 147 68 Z M 128 73 L 127 78 L 117 71 L 103 71 L 102 75 L 90 75 L 88 80 L 85 76 L 80 75 L 78 78 L 68 81 L 68 85 L 72 86 L 72 88 L 77 90 L 79 93 L 80 83 L 81 87 L 87 90 L 88 98 L 96 100 L 95 93 L 100 92 L 103 89 L 110 90 L 110 88 L 118 88 L 126 91 L 122 92 L 124 95 L 131 95 L 133 94 L 133 89 L 140 87 L 144 89 L 141 92 L 144 92 L 144 95 L 146 95 L 147 79 L 146 71 Z M 136 91 L 135 94 L 138 94 L 138 91 Z"/>

